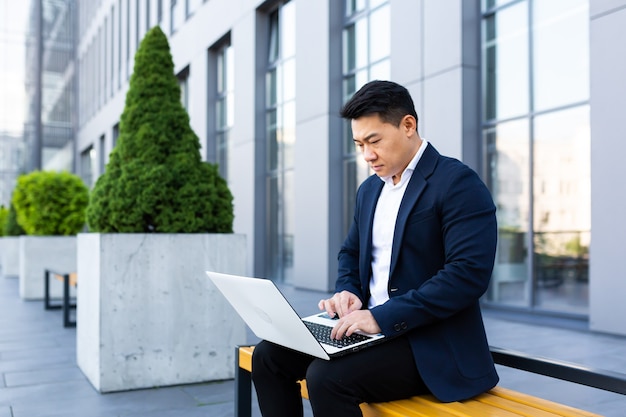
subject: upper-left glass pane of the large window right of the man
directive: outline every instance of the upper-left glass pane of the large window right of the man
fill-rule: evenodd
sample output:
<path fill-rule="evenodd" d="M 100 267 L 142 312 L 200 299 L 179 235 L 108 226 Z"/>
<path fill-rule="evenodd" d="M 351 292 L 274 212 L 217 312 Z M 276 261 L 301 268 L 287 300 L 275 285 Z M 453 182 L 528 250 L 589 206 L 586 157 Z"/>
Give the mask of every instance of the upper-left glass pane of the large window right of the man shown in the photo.
<path fill-rule="evenodd" d="M 483 22 L 484 112 L 487 120 L 529 111 L 528 5 L 507 7 Z"/>

